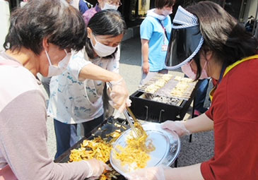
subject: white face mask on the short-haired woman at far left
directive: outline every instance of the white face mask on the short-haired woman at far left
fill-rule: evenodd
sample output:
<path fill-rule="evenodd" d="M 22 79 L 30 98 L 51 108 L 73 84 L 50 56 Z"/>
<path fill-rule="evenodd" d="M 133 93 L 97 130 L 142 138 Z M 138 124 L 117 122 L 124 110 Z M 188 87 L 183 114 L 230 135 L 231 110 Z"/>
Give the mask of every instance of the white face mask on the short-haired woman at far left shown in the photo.
<path fill-rule="evenodd" d="M 69 60 L 71 58 L 71 52 L 67 53 L 66 49 L 64 49 L 64 52 L 66 52 L 66 56 L 61 61 L 59 61 L 58 66 L 52 65 L 51 60 L 50 60 L 49 55 L 46 50 L 45 50 L 45 52 L 47 54 L 47 60 L 49 63 L 47 77 L 57 76 L 57 75 L 63 73 L 69 64 Z"/>

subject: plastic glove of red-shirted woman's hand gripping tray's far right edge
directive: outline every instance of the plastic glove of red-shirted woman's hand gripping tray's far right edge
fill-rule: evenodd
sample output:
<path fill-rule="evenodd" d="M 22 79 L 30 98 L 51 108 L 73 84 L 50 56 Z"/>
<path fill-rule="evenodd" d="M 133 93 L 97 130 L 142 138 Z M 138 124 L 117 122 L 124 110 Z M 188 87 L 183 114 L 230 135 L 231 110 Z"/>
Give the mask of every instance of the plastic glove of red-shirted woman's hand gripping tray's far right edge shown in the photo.
<path fill-rule="evenodd" d="M 161 128 L 175 131 L 178 136 L 190 135 L 191 132 L 184 126 L 184 121 L 165 121 L 161 124 Z"/>

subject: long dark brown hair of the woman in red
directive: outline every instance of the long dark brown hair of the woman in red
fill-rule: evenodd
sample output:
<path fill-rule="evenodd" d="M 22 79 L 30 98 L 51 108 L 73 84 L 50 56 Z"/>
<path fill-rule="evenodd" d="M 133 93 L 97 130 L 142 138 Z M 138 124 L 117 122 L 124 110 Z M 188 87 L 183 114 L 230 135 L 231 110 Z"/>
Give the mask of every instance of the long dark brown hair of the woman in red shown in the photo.
<path fill-rule="evenodd" d="M 218 4 L 201 1 L 188 6 L 186 10 L 197 16 L 201 35 L 204 37 L 204 44 L 194 57 L 198 68 L 197 78 L 201 74 L 200 53 L 205 54 L 211 50 L 216 59 L 226 66 L 256 54 L 257 40 Z"/>

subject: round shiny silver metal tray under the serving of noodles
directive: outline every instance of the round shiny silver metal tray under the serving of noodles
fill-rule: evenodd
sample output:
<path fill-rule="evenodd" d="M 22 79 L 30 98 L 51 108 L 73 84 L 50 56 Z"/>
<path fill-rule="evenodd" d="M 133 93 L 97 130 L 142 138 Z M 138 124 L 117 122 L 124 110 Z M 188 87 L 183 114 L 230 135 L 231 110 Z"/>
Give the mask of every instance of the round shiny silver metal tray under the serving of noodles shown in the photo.
<path fill-rule="evenodd" d="M 156 167 L 159 165 L 170 166 L 172 162 L 175 161 L 180 152 L 180 138 L 177 136 L 177 133 L 165 131 L 160 127 L 158 123 L 146 123 L 143 124 L 143 129 L 148 134 L 155 146 L 156 150 L 151 152 L 151 160 L 148 161 L 147 167 Z M 117 145 L 125 147 L 127 145 L 127 136 L 129 136 L 131 129 L 124 131 L 122 135 L 115 141 L 113 148 L 116 149 Z M 125 176 L 128 172 L 131 171 L 128 165 L 121 165 L 120 160 L 115 158 L 115 150 L 112 150 L 110 153 L 110 164 L 112 167 Z"/>

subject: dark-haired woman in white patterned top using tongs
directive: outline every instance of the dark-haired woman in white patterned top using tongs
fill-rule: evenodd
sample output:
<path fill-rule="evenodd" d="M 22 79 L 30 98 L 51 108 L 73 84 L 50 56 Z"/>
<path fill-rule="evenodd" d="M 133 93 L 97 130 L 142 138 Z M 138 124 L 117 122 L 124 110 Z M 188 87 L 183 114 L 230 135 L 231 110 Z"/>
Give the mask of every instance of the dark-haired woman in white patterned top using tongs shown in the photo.
<path fill-rule="evenodd" d="M 77 142 L 77 124 L 83 124 L 86 135 L 102 123 L 105 82 L 112 84 L 113 107 L 119 111 L 124 109 L 129 95 L 118 74 L 120 56 L 117 49 L 125 30 L 118 11 L 96 13 L 88 24 L 85 48 L 74 54 L 67 71 L 52 78 L 48 112 L 54 118 L 56 157 Z"/>

